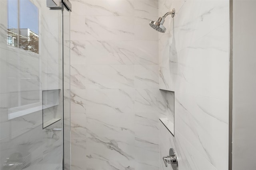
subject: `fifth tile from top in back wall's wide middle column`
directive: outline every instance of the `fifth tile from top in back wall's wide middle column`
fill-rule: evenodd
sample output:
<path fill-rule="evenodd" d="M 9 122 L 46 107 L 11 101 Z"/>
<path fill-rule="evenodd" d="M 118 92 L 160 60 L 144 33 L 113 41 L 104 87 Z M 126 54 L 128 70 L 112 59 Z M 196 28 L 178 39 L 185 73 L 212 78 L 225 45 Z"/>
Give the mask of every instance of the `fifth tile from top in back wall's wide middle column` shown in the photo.
<path fill-rule="evenodd" d="M 88 113 L 133 113 L 134 90 L 86 90 L 86 111 Z"/>

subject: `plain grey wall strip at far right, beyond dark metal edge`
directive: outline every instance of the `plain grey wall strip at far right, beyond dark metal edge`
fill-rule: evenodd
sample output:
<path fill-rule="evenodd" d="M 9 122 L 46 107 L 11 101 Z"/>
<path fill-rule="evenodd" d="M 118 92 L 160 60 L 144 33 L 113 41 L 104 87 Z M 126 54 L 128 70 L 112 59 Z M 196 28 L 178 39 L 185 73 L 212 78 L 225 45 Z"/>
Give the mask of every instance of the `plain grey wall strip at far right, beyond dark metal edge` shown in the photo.
<path fill-rule="evenodd" d="M 256 169 L 255 6 L 256 2 L 251 0 L 233 1 L 232 170 Z"/>

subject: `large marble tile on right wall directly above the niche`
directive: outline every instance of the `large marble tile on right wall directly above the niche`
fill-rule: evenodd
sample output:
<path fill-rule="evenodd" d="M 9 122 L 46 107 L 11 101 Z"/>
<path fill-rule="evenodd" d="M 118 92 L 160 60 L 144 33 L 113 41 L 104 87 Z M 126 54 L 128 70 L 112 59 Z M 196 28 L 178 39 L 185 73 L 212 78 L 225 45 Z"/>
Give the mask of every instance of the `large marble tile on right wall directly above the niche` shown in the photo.
<path fill-rule="evenodd" d="M 160 88 L 228 100 L 228 23 L 170 54 L 160 57 Z"/>

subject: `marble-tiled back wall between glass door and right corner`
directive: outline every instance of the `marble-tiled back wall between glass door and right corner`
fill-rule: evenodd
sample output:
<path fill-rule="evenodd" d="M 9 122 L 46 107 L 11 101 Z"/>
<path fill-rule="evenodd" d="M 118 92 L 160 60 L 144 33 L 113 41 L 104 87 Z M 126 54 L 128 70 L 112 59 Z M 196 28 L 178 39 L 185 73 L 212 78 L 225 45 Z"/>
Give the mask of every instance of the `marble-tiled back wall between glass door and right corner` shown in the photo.
<path fill-rule="evenodd" d="M 72 170 L 157 170 L 155 0 L 78 0 L 71 13 Z"/>

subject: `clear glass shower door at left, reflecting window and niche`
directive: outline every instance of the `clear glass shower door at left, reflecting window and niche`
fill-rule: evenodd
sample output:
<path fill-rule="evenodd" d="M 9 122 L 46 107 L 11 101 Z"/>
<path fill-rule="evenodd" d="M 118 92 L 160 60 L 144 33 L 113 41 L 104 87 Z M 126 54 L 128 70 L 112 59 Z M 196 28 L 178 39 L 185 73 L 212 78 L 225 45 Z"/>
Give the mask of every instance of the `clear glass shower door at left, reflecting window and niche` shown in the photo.
<path fill-rule="evenodd" d="M 0 170 L 70 169 L 70 8 L 0 0 Z"/>

